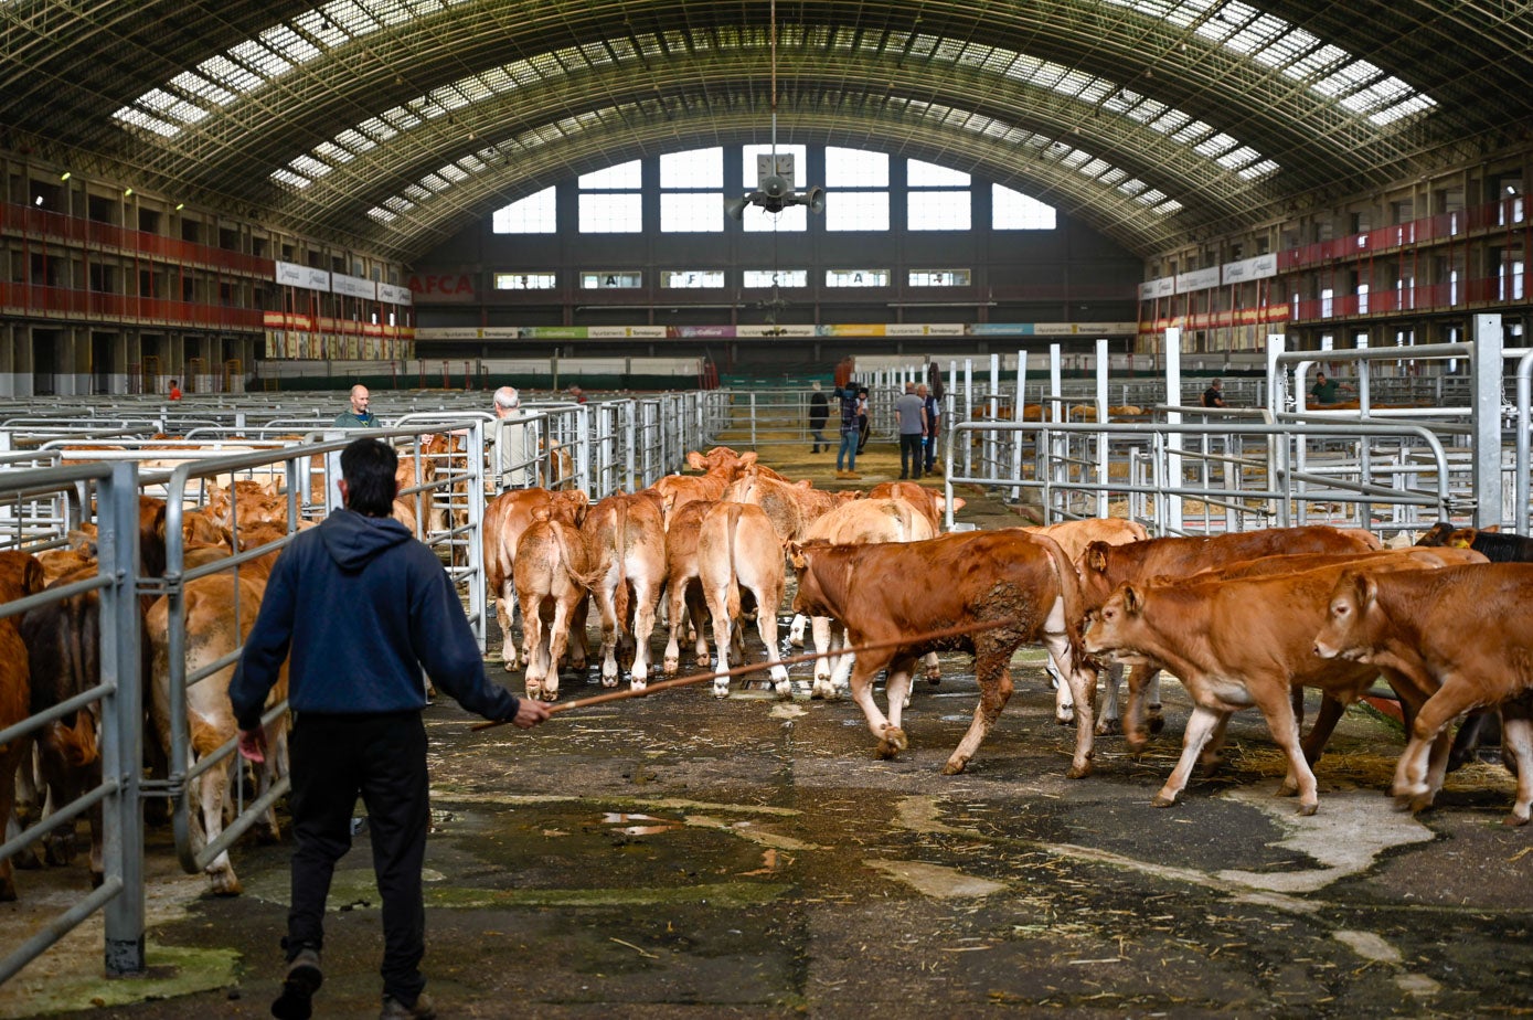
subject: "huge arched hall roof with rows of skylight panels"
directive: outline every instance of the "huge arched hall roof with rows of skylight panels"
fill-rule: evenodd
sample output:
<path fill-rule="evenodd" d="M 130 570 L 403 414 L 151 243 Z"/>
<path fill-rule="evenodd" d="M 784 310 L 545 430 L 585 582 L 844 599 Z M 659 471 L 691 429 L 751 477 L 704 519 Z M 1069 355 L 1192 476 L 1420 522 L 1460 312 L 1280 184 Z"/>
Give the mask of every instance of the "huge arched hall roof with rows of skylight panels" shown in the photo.
<path fill-rule="evenodd" d="M 1148 255 L 1515 140 L 1522 6 L 782 0 L 777 135 L 970 170 Z M 770 18 L 770 0 L 0 0 L 0 129 L 408 259 L 573 173 L 766 141 Z"/>

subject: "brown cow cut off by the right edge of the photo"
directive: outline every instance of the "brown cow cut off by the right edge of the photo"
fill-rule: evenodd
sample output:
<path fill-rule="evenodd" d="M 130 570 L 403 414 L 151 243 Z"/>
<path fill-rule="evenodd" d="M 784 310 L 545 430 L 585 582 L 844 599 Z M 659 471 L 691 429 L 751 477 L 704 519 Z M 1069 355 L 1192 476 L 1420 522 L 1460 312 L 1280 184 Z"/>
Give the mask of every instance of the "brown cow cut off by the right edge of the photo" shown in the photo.
<path fill-rule="evenodd" d="M 1502 745 L 1518 764 L 1508 825 L 1533 807 L 1533 564 L 1485 563 L 1430 574 L 1344 572 L 1331 592 L 1315 655 L 1397 670 L 1429 696 L 1410 724 L 1390 793 L 1432 805 L 1447 762 L 1446 727 L 1473 709 L 1501 707 Z"/>

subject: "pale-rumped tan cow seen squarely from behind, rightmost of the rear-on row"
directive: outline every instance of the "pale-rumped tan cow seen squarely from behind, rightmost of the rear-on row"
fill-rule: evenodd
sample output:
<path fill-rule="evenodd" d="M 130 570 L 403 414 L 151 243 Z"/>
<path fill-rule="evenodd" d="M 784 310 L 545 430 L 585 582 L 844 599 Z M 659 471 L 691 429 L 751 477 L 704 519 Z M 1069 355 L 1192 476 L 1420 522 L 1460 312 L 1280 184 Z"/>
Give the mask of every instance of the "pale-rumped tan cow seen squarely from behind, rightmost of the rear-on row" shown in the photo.
<path fill-rule="evenodd" d="M 771 683 L 779 698 L 791 695 L 788 670 L 777 664 L 777 610 L 786 589 L 782 541 L 765 511 L 745 503 L 714 503 L 704 514 L 698 529 L 698 580 L 713 615 L 717 672 L 730 669 L 731 644 L 744 663 L 742 614 L 748 609 L 748 594 L 756 604 L 756 632 L 766 646 L 766 661 L 773 663 Z M 730 696 L 730 678 L 714 678 L 713 693 Z"/>

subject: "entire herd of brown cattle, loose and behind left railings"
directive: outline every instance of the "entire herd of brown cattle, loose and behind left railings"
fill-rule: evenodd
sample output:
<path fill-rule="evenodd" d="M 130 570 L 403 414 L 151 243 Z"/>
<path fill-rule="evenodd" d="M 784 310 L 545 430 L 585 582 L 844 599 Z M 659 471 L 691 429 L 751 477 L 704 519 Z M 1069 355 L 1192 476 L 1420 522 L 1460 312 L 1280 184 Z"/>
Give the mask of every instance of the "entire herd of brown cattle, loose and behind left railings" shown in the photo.
<path fill-rule="evenodd" d="M 402 488 L 415 463 L 402 460 Z M 940 491 L 891 482 L 871 491 L 831 492 L 789 482 L 753 452 L 719 446 L 688 454 L 698 474 L 667 475 L 636 494 L 592 505 L 578 489 L 512 489 L 484 506 L 484 574 L 501 626 L 507 670 L 524 669 L 530 698 L 560 695 L 560 667 L 584 673 L 587 614 L 601 629 L 601 678 L 627 672 L 644 687 L 653 672 L 652 637 L 664 617 L 661 672 L 681 669 L 682 641 L 727 696 L 731 661 L 745 663 L 745 626 L 765 649 L 765 669 L 780 696 L 796 692 L 779 660 L 777 614 L 796 575 L 794 638 L 812 621 L 812 684 L 797 693 L 839 698 L 849 692 L 889 758 L 908 747 L 901 712 L 917 663 L 937 681 L 937 652 L 973 655 L 980 701 L 943 772 L 963 772 L 1012 693 L 1016 649 L 1041 643 L 1058 684 L 1056 718 L 1075 724 L 1070 778 L 1088 775 L 1093 739 L 1122 727 L 1141 749 L 1159 727 L 1159 670 L 1177 676 L 1193 710 L 1182 756 L 1154 799 L 1165 807 L 1191 770 L 1213 765 L 1229 716 L 1256 706 L 1288 758 L 1283 791 L 1302 813 L 1318 805 L 1314 762 L 1341 710 L 1383 679 L 1404 710 L 1409 742 L 1392 793 L 1410 810 L 1432 804 L 1449 768 L 1449 726 L 1466 713 L 1499 710 L 1508 767 L 1518 775 L 1508 822 L 1525 824 L 1533 804 L 1533 627 L 1519 609 L 1533 597 L 1533 541 L 1516 535 L 1453 531 L 1439 525 L 1416 546 L 1384 549 L 1366 531 L 1329 526 L 1272 528 L 1206 538 L 1150 538 L 1142 526 L 1082 520 L 1049 528 L 938 534 Z M 187 690 L 190 758 L 218 752 L 227 767 L 198 776 L 193 841 L 218 837 L 228 811 L 238 758 L 227 684 L 233 656 L 254 621 L 267 571 L 287 534 L 288 498 L 274 486 L 236 482 L 212 488 L 204 506 L 182 515 L 185 564 L 241 549 L 271 546 L 235 574 L 184 586 L 185 675 L 208 673 Z M 955 509 L 961 506 L 957 500 Z M 405 500 L 396 515 L 412 523 Z M 166 503 L 140 497 L 140 572 L 166 568 Z M 307 526 L 310 522 L 299 522 Z M 238 535 L 238 540 L 233 538 Z M 1515 561 L 1508 561 L 1515 560 Z M 87 537 L 41 555 L 0 552 L 0 601 L 97 571 Z M 665 598 L 664 610 L 661 600 Z M 170 753 L 170 620 L 164 597 L 140 600 L 146 692 L 146 756 L 158 776 Z M 512 638 L 521 617 L 521 643 Z M 0 620 L 0 729 L 61 704 L 98 683 L 97 592 Z M 708 635 L 713 652 L 710 656 Z M 1119 712 L 1119 664 L 1130 666 L 1127 707 Z M 874 679 L 886 675 L 886 710 Z M 1105 706 L 1098 719 L 1098 681 Z M 1321 710 L 1300 739 L 1305 687 L 1323 693 Z M 273 692 L 273 706 L 285 696 Z M 35 739 L 0 747 L 0 813 L 18 831 L 17 804 L 34 818 L 100 784 L 100 719 L 83 709 L 49 724 Z M 285 719 L 270 724 L 276 749 L 265 785 L 285 767 Z M 1467 726 L 1464 727 L 1467 730 Z M 184 770 L 192 762 L 182 762 Z M 92 810 L 92 876 L 100 880 L 100 807 Z M 276 833 L 268 813 L 265 827 Z M 52 864 L 72 854 L 72 825 L 48 841 Z M 37 867 L 35 850 L 17 864 Z M 0 900 L 15 899 L 11 860 L 0 860 Z M 207 867 L 213 890 L 241 891 L 228 854 Z"/>

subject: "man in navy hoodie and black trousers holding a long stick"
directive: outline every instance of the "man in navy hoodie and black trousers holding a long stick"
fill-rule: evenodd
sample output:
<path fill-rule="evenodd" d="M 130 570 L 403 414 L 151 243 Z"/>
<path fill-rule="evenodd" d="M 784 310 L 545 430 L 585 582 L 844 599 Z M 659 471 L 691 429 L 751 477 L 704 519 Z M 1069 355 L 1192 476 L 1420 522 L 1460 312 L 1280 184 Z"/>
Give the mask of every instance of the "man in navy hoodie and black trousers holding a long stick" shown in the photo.
<path fill-rule="evenodd" d="M 422 670 L 469 712 L 529 729 L 544 704 L 484 676 L 478 643 L 435 554 L 389 512 L 399 456 L 376 439 L 340 454 L 345 509 L 302 531 L 277 558 L 228 699 L 239 752 L 265 758 L 261 713 L 288 658 L 293 791 L 293 899 L 282 940 L 288 968 L 271 1003 L 307 1020 L 323 974 L 325 897 L 351 848 L 351 811 L 366 805 L 373 867 L 383 899 L 382 1017 L 435 1015 L 423 994 L 426 913 L 420 870 L 429 798 Z"/>

